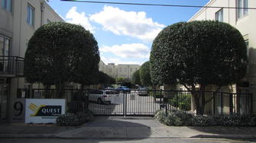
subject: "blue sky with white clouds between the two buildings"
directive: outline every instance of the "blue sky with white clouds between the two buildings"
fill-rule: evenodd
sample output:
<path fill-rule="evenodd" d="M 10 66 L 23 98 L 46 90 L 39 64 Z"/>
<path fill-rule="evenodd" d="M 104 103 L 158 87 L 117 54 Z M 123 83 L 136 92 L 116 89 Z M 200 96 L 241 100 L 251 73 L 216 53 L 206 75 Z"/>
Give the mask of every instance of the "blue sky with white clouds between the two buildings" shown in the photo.
<path fill-rule="evenodd" d="M 97 1 L 97 0 L 95 0 Z M 99 0 L 98 0 L 99 1 Z M 209 0 L 102 0 L 166 5 L 206 5 Z M 105 63 L 142 65 L 157 34 L 168 25 L 188 21 L 199 8 L 110 5 L 49 0 L 63 20 L 80 24 L 96 38 Z"/>

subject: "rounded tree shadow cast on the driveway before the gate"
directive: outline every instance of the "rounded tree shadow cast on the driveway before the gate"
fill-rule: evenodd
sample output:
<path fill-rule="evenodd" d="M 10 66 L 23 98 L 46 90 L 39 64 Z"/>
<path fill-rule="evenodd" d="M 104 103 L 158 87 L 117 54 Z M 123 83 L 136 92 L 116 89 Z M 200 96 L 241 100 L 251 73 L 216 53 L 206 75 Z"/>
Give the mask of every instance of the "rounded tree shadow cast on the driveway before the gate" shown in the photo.
<path fill-rule="evenodd" d="M 125 119 L 125 117 L 99 116 L 92 122 L 86 122 L 79 129 L 64 132 L 62 135 L 66 138 L 101 138 L 101 140 L 107 141 L 149 138 L 151 136 L 150 122 L 143 123 L 138 120 L 134 118 Z"/>

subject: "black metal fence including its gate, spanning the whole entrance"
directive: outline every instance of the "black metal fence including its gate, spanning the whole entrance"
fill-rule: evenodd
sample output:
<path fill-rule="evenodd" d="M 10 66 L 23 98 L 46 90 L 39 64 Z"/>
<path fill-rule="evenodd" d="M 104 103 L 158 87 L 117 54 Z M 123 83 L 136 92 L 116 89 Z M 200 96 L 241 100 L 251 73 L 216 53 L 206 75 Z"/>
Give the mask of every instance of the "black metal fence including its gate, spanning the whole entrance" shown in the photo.
<path fill-rule="evenodd" d="M 21 90 L 20 90 L 21 91 Z M 50 98 L 55 90 L 24 91 L 32 98 Z M 21 93 L 21 92 L 20 92 Z M 205 114 L 251 114 L 252 94 L 205 92 Z M 182 110 L 196 113 L 196 103 L 190 91 L 162 90 L 65 90 L 68 112 L 89 109 L 96 116 L 154 116 L 157 110 Z"/>

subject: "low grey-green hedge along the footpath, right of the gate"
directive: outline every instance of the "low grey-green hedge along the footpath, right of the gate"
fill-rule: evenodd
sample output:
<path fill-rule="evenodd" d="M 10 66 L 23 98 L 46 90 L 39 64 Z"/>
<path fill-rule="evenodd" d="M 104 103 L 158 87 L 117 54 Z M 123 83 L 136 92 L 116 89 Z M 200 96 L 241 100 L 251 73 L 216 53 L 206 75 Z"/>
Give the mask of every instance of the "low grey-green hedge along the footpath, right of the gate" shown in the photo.
<path fill-rule="evenodd" d="M 256 115 L 193 115 L 179 110 L 158 110 L 154 116 L 167 126 L 256 126 Z"/>

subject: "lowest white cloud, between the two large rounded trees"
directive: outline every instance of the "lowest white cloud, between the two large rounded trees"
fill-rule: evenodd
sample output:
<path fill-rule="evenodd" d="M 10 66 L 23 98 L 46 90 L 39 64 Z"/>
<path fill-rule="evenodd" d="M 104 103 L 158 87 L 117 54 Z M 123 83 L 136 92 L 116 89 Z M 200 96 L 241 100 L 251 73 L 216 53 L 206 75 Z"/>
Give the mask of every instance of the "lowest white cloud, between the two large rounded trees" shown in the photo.
<path fill-rule="evenodd" d="M 149 57 L 149 48 L 142 43 L 102 46 L 100 52 L 112 52 L 122 58 L 144 59 Z"/>

